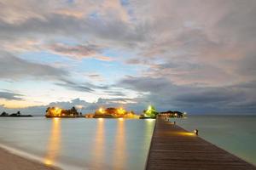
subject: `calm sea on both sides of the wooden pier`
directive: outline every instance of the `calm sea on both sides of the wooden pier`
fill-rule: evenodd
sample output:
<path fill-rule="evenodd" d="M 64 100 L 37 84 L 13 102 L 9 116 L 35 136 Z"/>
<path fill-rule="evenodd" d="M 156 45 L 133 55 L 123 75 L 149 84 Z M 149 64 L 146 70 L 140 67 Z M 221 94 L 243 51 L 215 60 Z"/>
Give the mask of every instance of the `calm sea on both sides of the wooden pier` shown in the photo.
<path fill-rule="evenodd" d="M 256 164 L 256 116 L 171 118 Z M 0 146 L 62 169 L 144 169 L 154 120 L 0 117 Z"/>

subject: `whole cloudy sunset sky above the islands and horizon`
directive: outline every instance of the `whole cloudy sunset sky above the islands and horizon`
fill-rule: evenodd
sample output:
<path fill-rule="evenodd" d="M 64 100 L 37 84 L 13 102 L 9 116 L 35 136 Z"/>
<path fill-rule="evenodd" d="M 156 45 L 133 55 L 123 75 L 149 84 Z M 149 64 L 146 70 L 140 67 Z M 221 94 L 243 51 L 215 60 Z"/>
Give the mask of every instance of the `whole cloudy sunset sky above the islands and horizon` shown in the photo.
<path fill-rule="evenodd" d="M 255 0 L 0 0 L 0 111 L 256 115 Z"/>

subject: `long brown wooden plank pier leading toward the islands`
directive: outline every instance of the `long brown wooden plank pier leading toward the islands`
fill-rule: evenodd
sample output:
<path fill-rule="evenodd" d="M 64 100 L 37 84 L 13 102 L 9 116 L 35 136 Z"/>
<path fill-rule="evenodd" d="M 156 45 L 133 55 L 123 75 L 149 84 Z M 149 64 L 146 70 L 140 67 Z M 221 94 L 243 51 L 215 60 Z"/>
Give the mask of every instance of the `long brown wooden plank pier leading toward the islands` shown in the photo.
<path fill-rule="evenodd" d="M 145 169 L 256 170 L 256 167 L 195 133 L 157 118 Z"/>

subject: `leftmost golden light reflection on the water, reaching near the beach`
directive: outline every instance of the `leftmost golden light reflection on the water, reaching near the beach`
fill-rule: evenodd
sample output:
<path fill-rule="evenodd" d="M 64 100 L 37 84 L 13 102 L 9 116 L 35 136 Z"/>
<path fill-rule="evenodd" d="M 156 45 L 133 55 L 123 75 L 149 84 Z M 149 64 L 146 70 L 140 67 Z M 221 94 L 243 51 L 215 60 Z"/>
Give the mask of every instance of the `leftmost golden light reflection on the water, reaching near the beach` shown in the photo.
<path fill-rule="evenodd" d="M 55 164 L 56 157 L 59 155 L 61 148 L 61 119 L 54 118 L 52 120 L 49 142 L 47 145 L 44 163 L 46 165 Z"/>

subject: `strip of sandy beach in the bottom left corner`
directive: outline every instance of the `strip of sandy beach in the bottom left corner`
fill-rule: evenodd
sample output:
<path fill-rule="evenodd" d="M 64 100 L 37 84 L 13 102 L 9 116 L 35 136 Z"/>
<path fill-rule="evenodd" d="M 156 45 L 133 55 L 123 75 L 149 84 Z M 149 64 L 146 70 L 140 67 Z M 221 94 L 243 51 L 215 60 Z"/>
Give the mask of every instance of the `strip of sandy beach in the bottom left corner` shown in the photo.
<path fill-rule="evenodd" d="M 8 150 L 0 148 L 0 170 L 57 170 L 57 167 L 48 167 L 38 161 L 16 156 Z"/>

